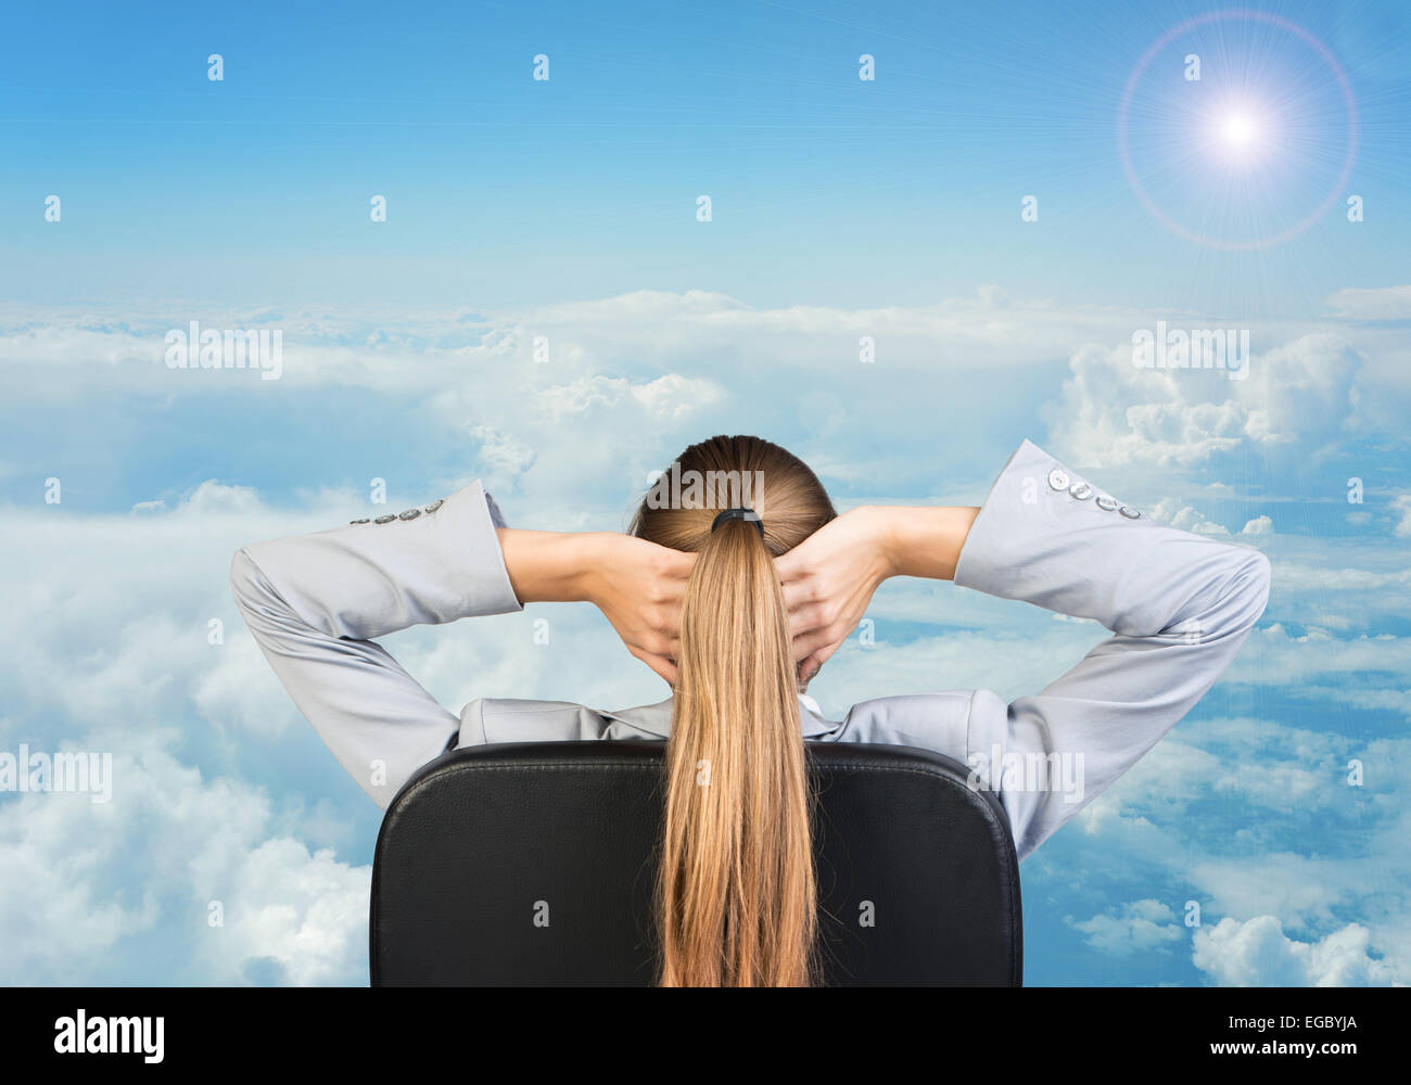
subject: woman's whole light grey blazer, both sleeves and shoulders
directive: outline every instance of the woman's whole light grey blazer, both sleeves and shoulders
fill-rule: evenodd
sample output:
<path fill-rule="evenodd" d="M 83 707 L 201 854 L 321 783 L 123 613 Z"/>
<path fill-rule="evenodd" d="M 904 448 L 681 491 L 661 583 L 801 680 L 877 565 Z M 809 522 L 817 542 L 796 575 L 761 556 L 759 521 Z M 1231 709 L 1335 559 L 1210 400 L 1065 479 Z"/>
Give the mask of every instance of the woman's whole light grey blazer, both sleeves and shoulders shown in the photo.
<path fill-rule="evenodd" d="M 487 742 L 665 739 L 670 698 L 604 711 L 474 700 L 447 711 L 374 641 L 521 610 L 499 552 L 507 526 L 480 483 L 399 516 L 251 543 L 231 563 L 236 602 L 303 715 L 384 810 L 449 748 Z M 972 769 L 1027 856 L 1184 717 L 1235 657 L 1268 598 L 1259 550 L 1153 523 L 1030 442 L 981 507 L 955 583 L 1112 631 L 1067 674 L 1005 703 L 991 690 L 882 697 L 803 735 L 889 742 Z"/>

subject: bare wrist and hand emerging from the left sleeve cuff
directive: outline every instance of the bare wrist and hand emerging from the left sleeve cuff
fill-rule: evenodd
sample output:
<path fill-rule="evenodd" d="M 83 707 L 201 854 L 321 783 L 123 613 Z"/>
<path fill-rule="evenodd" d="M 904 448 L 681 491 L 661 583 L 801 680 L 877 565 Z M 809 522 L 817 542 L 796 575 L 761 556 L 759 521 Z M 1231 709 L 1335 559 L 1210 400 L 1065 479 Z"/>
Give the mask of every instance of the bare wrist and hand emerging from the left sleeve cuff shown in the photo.
<path fill-rule="evenodd" d="M 591 602 L 626 650 L 676 684 L 682 600 L 696 554 L 618 532 L 497 529 L 522 605 Z"/>

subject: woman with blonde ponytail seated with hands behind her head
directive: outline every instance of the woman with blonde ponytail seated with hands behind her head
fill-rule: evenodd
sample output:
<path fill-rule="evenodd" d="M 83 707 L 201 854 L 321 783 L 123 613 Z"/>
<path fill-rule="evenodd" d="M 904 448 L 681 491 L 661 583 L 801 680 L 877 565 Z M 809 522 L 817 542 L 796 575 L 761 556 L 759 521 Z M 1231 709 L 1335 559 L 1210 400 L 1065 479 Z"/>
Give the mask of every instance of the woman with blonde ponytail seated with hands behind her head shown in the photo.
<path fill-rule="evenodd" d="M 1113 635 L 1009 704 L 951 690 L 824 720 L 807 683 L 895 576 L 954 580 Z M 1023 859 L 1215 683 L 1263 612 L 1268 578 L 1257 550 L 1156 525 L 1027 440 L 978 508 L 840 516 L 777 444 L 713 437 L 672 464 L 629 535 L 511 529 L 477 483 L 399 516 L 246 546 L 231 567 L 270 665 L 382 808 L 454 746 L 667 739 L 660 982 L 690 986 L 816 979 L 803 739 L 968 763 L 976 786 L 998 792 Z M 477 700 L 456 715 L 373 643 L 571 600 L 597 605 L 674 696 L 622 711 Z M 1009 770 L 1036 762 L 1077 765 L 1078 793 Z"/>

